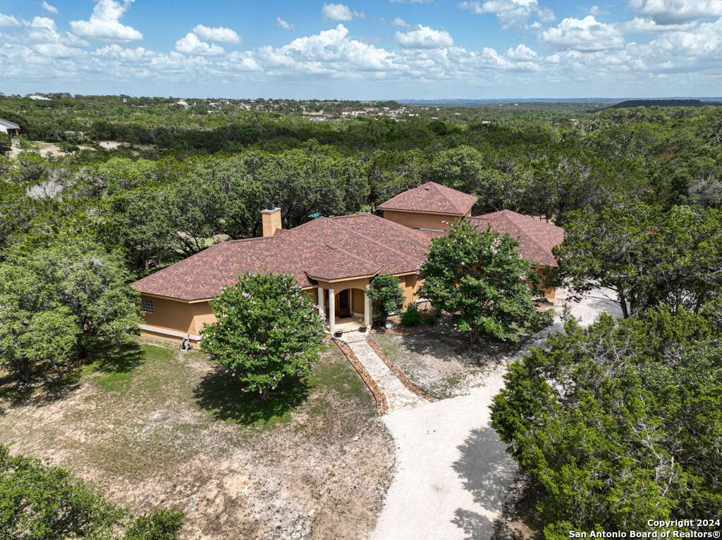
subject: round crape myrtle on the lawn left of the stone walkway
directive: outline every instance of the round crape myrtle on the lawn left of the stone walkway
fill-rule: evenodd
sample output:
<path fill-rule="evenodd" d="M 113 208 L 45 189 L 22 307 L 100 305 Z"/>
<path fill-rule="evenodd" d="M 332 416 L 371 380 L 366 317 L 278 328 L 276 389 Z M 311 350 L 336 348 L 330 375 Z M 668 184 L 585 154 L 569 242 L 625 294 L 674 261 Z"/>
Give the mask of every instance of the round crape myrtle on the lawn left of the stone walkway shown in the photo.
<path fill-rule="evenodd" d="M 201 330 L 201 347 L 244 392 L 268 399 L 285 377 L 310 373 L 320 358 L 323 319 L 290 274 L 245 272 L 211 307 L 218 320 Z"/>

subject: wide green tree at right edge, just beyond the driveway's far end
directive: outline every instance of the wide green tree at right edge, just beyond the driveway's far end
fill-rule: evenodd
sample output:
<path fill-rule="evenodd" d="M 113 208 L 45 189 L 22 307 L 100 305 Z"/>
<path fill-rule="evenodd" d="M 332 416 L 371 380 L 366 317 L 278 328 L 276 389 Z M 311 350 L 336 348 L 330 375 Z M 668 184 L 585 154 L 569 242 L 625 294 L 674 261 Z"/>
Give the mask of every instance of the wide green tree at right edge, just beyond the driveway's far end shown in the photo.
<path fill-rule="evenodd" d="M 601 286 L 625 318 L 658 305 L 699 311 L 722 291 L 722 212 L 617 199 L 575 212 L 554 254 L 572 298 Z"/>

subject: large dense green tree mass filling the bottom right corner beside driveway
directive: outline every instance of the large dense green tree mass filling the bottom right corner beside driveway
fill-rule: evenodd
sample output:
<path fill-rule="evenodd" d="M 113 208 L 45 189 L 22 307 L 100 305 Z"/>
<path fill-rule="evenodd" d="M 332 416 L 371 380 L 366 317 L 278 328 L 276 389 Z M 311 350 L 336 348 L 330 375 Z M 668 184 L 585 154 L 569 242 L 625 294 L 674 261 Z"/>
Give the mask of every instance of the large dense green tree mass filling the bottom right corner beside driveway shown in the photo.
<path fill-rule="evenodd" d="M 584 328 L 567 313 L 510 366 L 492 425 L 546 488 L 548 539 L 722 518 L 718 322 L 659 308 Z"/>

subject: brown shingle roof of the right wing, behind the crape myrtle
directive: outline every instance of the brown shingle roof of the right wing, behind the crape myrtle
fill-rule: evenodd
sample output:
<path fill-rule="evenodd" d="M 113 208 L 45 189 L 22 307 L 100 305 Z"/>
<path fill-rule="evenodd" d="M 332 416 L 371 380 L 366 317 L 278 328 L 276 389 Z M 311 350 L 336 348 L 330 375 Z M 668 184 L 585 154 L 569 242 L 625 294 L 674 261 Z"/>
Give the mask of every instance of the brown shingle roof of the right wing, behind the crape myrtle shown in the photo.
<path fill-rule="evenodd" d="M 510 210 L 474 216 L 471 220 L 477 223 L 477 229 L 486 229 L 487 223 L 491 223 L 495 231 L 518 238 L 519 252 L 524 259 L 539 265 L 558 266 L 552 247 L 564 240 L 561 227 Z"/>

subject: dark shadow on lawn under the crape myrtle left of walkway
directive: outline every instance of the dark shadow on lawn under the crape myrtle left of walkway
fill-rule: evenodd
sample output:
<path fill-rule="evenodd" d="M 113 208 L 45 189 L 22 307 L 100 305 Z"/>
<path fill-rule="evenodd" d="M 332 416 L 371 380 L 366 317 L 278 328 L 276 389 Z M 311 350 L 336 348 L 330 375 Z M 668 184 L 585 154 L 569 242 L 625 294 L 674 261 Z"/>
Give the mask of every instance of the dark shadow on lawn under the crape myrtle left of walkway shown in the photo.
<path fill-rule="evenodd" d="M 311 388 L 300 377 L 284 381 L 284 386 L 271 391 L 267 402 L 256 392 L 243 392 L 238 381 L 230 379 L 225 368 L 217 366 L 193 391 L 196 403 L 210 412 L 215 420 L 270 428 L 276 422 L 291 420 L 291 412 L 310 394 Z"/>

